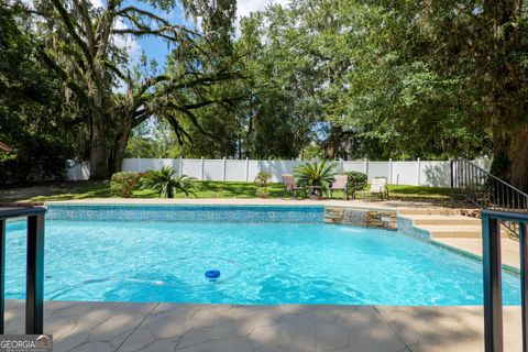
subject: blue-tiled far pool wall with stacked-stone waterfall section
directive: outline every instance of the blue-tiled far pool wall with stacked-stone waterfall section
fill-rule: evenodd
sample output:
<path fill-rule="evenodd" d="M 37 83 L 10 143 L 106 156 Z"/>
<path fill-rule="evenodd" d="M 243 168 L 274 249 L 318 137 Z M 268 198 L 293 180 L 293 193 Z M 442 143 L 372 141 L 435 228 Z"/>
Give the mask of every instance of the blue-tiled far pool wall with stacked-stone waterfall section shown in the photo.
<path fill-rule="evenodd" d="M 50 220 L 337 223 L 397 230 L 394 209 L 329 206 L 46 204 Z M 411 223 L 410 223 L 411 227 Z M 407 228 L 407 227 L 405 227 Z"/>

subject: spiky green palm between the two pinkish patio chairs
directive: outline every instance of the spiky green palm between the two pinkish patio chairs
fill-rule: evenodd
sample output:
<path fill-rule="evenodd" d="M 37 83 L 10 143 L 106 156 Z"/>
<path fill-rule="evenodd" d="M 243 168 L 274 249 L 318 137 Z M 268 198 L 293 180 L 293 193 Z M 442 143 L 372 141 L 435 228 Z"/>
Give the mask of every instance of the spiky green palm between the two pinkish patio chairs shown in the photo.
<path fill-rule="evenodd" d="M 336 166 L 336 163 L 329 161 L 306 163 L 294 168 L 294 176 L 299 185 L 317 186 L 328 191 L 333 177 L 338 174 Z"/>

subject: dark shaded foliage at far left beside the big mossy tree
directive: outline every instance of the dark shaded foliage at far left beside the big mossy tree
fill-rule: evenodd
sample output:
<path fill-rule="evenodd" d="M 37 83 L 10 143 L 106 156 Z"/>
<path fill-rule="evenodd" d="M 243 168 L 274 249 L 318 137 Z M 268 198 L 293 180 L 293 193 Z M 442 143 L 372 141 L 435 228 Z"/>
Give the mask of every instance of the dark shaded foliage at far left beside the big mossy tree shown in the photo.
<path fill-rule="evenodd" d="M 64 177 L 75 125 L 59 77 L 38 59 L 34 29 L 18 7 L 0 3 L 0 141 L 16 151 L 0 157 L 0 185 Z"/>

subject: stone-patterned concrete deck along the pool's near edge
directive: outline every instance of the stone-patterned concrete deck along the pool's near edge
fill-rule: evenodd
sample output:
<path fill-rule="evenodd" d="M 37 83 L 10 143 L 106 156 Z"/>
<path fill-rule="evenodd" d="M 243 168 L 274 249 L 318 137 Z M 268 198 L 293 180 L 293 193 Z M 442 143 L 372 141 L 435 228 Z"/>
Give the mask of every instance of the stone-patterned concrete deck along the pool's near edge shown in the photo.
<path fill-rule="evenodd" d="M 23 305 L 7 301 L 7 333 L 23 333 Z M 505 351 L 520 351 L 520 307 L 504 319 Z M 46 301 L 44 332 L 55 352 L 481 352 L 483 321 L 482 307 Z"/>

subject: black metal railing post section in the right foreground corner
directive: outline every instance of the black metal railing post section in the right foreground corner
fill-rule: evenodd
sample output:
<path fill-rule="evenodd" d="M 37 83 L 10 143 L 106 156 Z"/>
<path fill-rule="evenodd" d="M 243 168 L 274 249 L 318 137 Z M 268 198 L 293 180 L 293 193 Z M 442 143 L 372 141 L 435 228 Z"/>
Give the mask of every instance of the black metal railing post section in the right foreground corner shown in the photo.
<path fill-rule="evenodd" d="M 516 222 L 520 246 L 520 305 L 522 351 L 528 351 L 528 213 L 484 209 L 482 216 L 484 265 L 484 343 L 486 352 L 502 352 L 503 297 L 501 260 L 501 222 Z"/>

